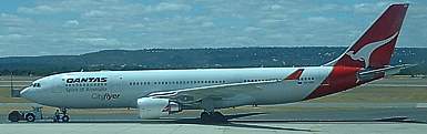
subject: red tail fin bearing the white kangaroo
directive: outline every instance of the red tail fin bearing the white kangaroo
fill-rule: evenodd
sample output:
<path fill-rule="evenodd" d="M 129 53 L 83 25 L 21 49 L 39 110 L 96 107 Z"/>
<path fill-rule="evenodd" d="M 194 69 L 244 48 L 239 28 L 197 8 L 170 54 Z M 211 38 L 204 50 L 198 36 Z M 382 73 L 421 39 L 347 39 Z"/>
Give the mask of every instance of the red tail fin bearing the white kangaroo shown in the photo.
<path fill-rule="evenodd" d="M 338 59 L 325 64 L 378 69 L 388 65 L 408 3 L 392 4 Z"/>

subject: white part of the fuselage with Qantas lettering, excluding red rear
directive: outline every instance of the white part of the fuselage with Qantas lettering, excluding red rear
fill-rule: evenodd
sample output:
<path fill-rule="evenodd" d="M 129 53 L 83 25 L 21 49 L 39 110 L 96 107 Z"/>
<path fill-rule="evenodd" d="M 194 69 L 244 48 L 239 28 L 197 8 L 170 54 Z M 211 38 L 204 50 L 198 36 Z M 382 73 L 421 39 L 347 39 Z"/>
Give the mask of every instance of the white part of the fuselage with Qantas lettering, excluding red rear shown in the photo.
<path fill-rule="evenodd" d="M 149 70 L 72 72 L 37 80 L 26 97 L 34 102 L 78 109 L 136 107 L 136 100 L 150 93 L 174 91 L 226 83 L 285 79 L 304 69 L 299 80 L 260 85 L 262 90 L 231 93 L 214 103 L 215 107 L 251 104 L 279 104 L 302 101 L 317 89 L 331 73 L 332 66 L 248 68 L 200 70 Z M 79 80 L 77 80 L 79 79 Z M 87 79 L 87 80 L 82 80 Z M 88 80 L 92 79 L 92 80 Z M 96 80 L 98 79 L 98 80 Z M 105 81 L 102 81 L 105 79 Z M 100 81 L 101 80 L 101 81 Z M 233 92 L 231 90 L 230 92 Z M 197 107 L 193 107 L 197 109 Z"/>

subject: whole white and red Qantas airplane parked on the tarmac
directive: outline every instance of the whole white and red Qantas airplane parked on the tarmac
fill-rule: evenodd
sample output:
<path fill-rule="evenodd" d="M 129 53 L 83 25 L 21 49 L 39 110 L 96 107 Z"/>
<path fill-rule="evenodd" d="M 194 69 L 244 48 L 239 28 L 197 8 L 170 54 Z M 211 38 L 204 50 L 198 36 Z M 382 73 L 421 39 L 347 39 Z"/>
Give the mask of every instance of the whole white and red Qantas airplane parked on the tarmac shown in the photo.
<path fill-rule="evenodd" d="M 220 109 L 312 100 L 396 74 L 389 65 L 408 3 L 390 4 L 337 59 L 319 66 L 69 72 L 35 80 L 22 97 L 69 109 L 139 110 L 159 118 L 203 110 L 202 122 L 226 121 Z"/>

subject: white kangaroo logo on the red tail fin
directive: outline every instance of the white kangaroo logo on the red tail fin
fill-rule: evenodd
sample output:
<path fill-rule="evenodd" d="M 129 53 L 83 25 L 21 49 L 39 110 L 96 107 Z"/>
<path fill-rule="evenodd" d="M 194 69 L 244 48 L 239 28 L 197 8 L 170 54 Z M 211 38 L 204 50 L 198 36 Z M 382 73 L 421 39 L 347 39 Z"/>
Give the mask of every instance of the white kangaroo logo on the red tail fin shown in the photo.
<path fill-rule="evenodd" d="M 397 34 L 398 34 L 398 32 L 396 32 L 395 34 L 393 34 L 392 37 L 389 37 L 385 40 L 380 40 L 377 42 L 372 42 L 369 44 L 366 44 L 360 50 L 358 50 L 356 53 L 354 51 L 348 51 L 345 54 L 349 55 L 353 60 L 365 62 L 365 68 L 368 68 L 370 54 L 376 49 L 390 42 L 393 39 L 395 39 L 397 37 Z"/>

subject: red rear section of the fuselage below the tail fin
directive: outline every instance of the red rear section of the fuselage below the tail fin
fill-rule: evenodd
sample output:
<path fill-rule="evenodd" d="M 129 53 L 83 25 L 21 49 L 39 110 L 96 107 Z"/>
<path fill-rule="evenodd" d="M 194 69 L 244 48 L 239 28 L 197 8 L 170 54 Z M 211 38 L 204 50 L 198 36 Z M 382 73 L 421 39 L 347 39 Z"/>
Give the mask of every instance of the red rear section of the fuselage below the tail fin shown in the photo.
<path fill-rule="evenodd" d="M 334 66 L 322 84 L 304 100 L 325 96 L 359 85 L 360 83 L 357 81 L 359 70 L 360 68 Z"/>

